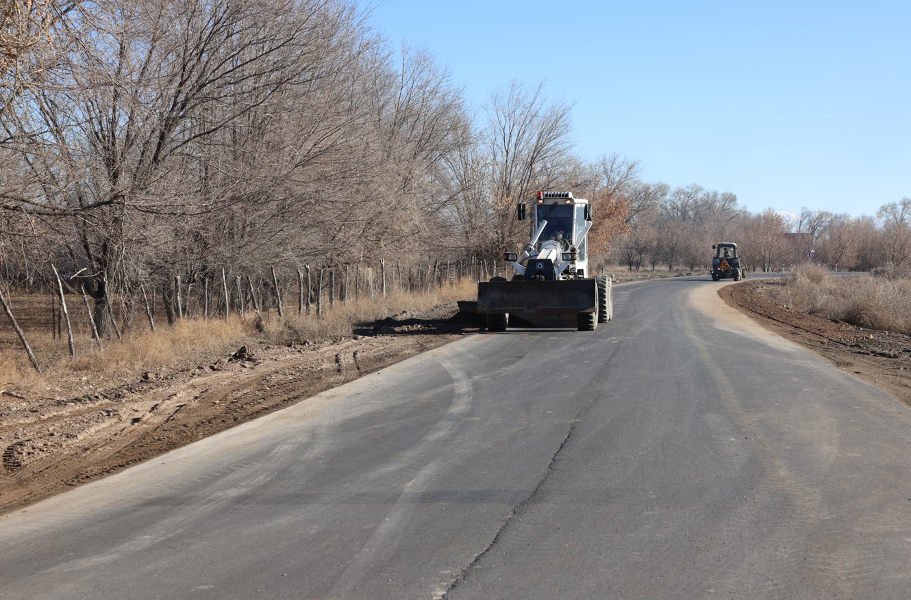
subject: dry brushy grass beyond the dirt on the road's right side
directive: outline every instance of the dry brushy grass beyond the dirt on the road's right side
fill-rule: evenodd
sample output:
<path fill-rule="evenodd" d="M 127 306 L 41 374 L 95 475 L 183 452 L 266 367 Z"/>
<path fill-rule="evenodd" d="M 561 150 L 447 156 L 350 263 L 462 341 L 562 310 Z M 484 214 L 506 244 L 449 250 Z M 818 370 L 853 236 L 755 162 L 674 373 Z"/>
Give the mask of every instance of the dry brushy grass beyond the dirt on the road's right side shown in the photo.
<path fill-rule="evenodd" d="M 796 310 L 880 331 L 911 334 L 911 280 L 873 275 L 836 276 L 818 266 L 794 269 L 788 279 Z"/>

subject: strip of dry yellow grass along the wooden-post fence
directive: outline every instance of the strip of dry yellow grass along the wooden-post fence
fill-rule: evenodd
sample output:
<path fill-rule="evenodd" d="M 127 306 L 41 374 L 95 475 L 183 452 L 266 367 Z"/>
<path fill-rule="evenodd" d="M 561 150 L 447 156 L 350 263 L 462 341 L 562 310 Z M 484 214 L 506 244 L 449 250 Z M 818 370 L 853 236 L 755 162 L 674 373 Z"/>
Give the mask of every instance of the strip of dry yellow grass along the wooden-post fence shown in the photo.
<path fill-rule="evenodd" d="M 86 387 L 103 387 L 135 380 L 144 371 L 168 371 L 179 365 L 195 366 L 223 358 L 241 345 L 331 340 L 350 336 L 359 324 L 405 310 L 430 310 L 472 298 L 475 293 L 476 283 L 465 280 L 429 292 L 395 292 L 385 298 L 375 294 L 373 298 L 364 296 L 347 304 L 336 300 L 334 308 L 323 299 L 322 318 L 316 317 L 315 305 L 310 316 L 299 316 L 295 302 L 285 309 L 283 319 L 271 310 L 264 314 L 248 312 L 242 318 L 234 315 L 229 320 L 181 320 L 173 327 L 159 325 L 156 331 L 138 327 L 123 341 L 115 338 L 104 341 L 100 347 L 87 331 L 77 331 L 75 361 L 69 358 L 66 338 L 53 340 L 49 332 L 41 329 L 26 331 L 42 372 L 32 369 L 21 346 L 7 344 L 0 350 L 0 392 L 56 396 L 61 386 L 68 387 L 64 385 L 66 381 L 74 379 L 90 381 Z"/>

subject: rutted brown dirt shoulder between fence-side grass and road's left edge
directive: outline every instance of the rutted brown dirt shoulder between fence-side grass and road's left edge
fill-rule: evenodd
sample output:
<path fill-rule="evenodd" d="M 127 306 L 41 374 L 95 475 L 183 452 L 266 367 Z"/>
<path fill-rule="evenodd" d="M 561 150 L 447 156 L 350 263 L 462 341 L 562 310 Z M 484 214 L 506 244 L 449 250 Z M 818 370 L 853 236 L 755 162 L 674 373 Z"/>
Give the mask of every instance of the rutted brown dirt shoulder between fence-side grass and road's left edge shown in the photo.
<path fill-rule="evenodd" d="M 0 390 L 0 514 L 300 402 L 477 331 L 455 304 L 365 324 L 351 337 L 144 373 L 99 390 L 87 377 L 64 397 Z"/>

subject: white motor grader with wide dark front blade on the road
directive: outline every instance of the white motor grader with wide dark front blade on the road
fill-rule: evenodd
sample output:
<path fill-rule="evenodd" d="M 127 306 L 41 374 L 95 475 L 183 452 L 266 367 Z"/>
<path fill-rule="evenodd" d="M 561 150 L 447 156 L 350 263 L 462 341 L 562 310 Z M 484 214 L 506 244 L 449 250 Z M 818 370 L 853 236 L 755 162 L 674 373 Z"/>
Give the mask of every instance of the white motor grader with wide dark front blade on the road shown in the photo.
<path fill-rule="evenodd" d="M 521 252 L 504 253 L 515 269 L 512 277 L 477 284 L 476 310 L 486 315 L 487 329 L 506 331 L 516 318 L 537 327 L 594 331 L 611 320 L 610 278 L 589 273 L 589 200 L 573 198 L 572 192 L 538 191 L 530 211 L 526 203 L 518 204 L 517 219 L 531 221 L 531 239 Z"/>

